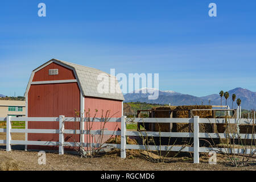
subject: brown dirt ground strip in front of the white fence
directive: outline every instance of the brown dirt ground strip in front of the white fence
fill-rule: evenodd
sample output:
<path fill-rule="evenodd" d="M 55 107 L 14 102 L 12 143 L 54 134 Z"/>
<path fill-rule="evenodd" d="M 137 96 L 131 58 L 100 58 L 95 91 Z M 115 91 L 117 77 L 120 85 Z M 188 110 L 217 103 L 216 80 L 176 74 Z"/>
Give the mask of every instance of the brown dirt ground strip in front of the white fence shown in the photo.
<path fill-rule="evenodd" d="M 254 170 L 256 171 L 256 159 L 251 161 L 250 166 L 231 167 L 228 159 L 222 155 L 217 155 L 217 164 L 209 164 L 209 156 L 200 157 L 200 164 L 193 164 L 193 158 L 179 157 L 168 163 L 153 163 L 142 159 L 138 152 L 127 151 L 127 158 L 121 159 L 119 151 L 114 150 L 108 155 L 97 158 L 81 158 L 78 155 L 59 155 L 46 153 L 46 165 L 38 164 L 38 152 L 32 151 L 11 151 L 0 150 L 0 170 L 24 170 L 24 171 L 232 171 L 232 170 Z M 135 155 L 134 155 L 135 154 Z"/>

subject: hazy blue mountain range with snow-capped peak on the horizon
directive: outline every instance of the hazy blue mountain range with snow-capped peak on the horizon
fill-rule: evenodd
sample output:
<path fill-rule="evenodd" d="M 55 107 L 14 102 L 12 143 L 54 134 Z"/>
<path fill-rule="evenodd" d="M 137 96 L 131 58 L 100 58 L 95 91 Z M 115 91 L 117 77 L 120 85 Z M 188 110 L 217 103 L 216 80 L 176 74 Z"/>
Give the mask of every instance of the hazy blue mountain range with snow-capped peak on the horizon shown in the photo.
<path fill-rule="evenodd" d="M 171 104 L 171 105 L 220 105 L 221 97 L 218 94 L 210 94 L 209 96 L 196 97 L 189 94 L 182 94 L 174 91 L 159 90 L 159 97 L 156 100 L 148 100 L 148 95 L 152 95 L 156 89 L 143 88 L 134 93 L 125 94 L 125 102 L 147 102 L 151 104 Z M 241 99 L 242 109 L 256 109 L 256 92 L 243 88 L 235 88 L 229 90 L 229 98 L 227 105 L 232 107 L 232 94 L 236 94 L 236 99 Z M 226 100 L 222 97 L 222 105 L 226 105 Z M 233 108 L 237 107 L 237 102 L 234 101 Z"/>

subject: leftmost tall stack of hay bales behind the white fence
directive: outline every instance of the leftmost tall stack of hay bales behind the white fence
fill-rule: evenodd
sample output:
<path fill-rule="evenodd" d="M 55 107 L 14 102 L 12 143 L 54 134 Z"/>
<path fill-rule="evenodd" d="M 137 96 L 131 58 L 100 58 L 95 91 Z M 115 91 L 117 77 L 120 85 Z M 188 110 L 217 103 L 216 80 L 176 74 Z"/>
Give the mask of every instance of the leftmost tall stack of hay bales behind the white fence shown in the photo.
<path fill-rule="evenodd" d="M 172 110 L 176 109 L 176 106 L 159 106 L 154 107 L 152 110 L 155 113 L 155 118 L 172 118 Z M 158 111 L 160 110 L 160 111 Z M 166 111 L 162 111 L 166 110 Z M 170 132 L 172 131 L 172 123 L 155 123 L 154 131 Z"/>

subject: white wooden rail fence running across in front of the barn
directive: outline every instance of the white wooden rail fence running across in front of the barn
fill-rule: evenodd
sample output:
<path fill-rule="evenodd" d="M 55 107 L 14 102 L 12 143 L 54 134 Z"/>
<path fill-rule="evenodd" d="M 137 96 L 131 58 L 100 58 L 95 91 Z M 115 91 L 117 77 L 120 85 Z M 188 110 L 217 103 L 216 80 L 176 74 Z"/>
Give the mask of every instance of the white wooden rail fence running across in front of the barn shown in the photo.
<path fill-rule="evenodd" d="M 239 113 L 237 113 L 239 115 Z M 230 124 L 249 124 L 253 125 L 254 119 L 228 119 Z M 53 121 L 59 122 L 59 130 L 51 129 L 11 129 L 11 120 L 13 121 L 34 121 L 34 122 L 46 122 Z M 40 146 L 59 146 L 59 154 L 64 154 L 64 146 L 76 146 L 74 142 L 65 142 L 64 134 L 89 134 L 88 130 L 65 130 L 65 122 L 80 122 L 79 118 L 65 118 L 60 115 L 59 118 L 11 118 L 10 116 L 6 118 L 0 118 L 0 121 L 6 121 L 6 129 L 0 129 L 0 133 L 6 133 L 6 140 L 0 140 L 0 144 L 6 144 L 6 151 L 11 151 L 11 144 L 22 144 L 22 145 L 40 145 Z M 92 121 L 92 120 L 91 120 Z M 94 119 L 94 122 L 101 122 L 102 118 Z M 209 151 L 222 151 L 227 152 L 227 148 L 211 148 L 211 147 L 200 147 L 199 138 L 227 138 L 226 134 L 218 133 L 200 133 L 199 123 L 226 123 L 225 119 L 217 118 L 199 118 L 197 116 L 193 118 L 111 118 L 109 122 L 121 122 L 121 131 L 104 131 L 104 135 L 121 135 L 121 144 L 106 144 L 106 146 L 112 146 L 121 149 L 121 158 L 126 158 L 126 149 L 134 150 L 162 150 L 162 151 L 181 151 L 181 152 L 193 152 L 193 162 L 199 163 L 199 153 L 209 152 Z M 193 133 L 173 133 L 173 132 L 161 132 L 158 131 L 126 131 L 126 123 L 193 123 Z M 59 142 L 52 141 L 24 141 L 24 140 L 12 140 L 11 133 L 48 133 L 48 134 L 59 134 Z M 90 134 L 100 135 L 101 130 L 90 131 Z M 148 136 L 148 137 L 184 137 L 193 138 L 193 147 L 181 147 L 181 146 L 144 146 L 144 145 L 133 145 L 126 144 L 127 136 Z M 255 139 L 255 134 L 230 134 L 230 138 L 242 138 L 242 139 Z M 83 143 L 86 146 L 87 143 Z M 93 143 L 93 145 L 97 143 Z M 254 154 L 255 149 L 250 150 L 248 148 L 244 151 L 240 149 L 229 149 L 229 152 L 235 152 L 240 154 Z M 232 151 L 231 151 L 232 150 Z"/>

